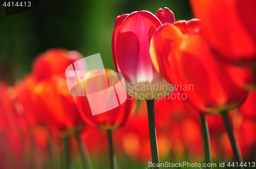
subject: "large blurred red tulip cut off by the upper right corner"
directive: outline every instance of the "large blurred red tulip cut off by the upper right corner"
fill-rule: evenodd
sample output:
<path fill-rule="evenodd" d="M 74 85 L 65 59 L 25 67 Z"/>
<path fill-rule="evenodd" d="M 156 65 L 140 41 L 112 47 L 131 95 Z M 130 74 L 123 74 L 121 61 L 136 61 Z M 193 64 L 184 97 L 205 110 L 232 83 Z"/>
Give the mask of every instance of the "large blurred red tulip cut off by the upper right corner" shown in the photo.
<path fill-rule="evenodd" d="M 256 64 L 256 2 L 254 0 L 190 0 L 211 48 L 231 63 Z"/>

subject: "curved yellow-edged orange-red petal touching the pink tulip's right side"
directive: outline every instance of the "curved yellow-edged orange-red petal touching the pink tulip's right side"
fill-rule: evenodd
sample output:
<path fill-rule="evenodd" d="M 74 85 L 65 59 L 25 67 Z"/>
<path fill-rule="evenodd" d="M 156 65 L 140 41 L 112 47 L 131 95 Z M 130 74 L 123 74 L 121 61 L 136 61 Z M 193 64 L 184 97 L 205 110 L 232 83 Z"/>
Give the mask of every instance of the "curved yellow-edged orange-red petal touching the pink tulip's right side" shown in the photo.
<path fill-rule="evenodd" d="M 157 72 L 169 83 L 177 83 L 168 57 L 172 51 L 172 44 L 183 36 L 173 24 L 165 23 L 155 32 L 150 46 L 151 60 Z"/>

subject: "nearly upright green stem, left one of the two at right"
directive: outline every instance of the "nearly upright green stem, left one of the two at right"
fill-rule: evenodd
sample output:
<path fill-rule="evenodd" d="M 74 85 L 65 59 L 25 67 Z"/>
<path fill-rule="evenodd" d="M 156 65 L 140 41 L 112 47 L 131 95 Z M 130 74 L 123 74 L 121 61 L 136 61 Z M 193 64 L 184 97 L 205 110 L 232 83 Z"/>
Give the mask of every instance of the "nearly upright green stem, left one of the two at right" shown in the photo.
<path fill-rule="evenodd" d="M 211 164 L 211 151 L 210 151 L 210 136 L 209 136 L 209 130 L 208 130 L 208 124 L 205 118 L 205 115 L 199 114 L 200 121 L 201 121 L 201 132 L 202 132 L 202 138 L 204 143 L 204 160 L 206 164 Z M 205 168 L 211 168 L 205 167 Z"/>

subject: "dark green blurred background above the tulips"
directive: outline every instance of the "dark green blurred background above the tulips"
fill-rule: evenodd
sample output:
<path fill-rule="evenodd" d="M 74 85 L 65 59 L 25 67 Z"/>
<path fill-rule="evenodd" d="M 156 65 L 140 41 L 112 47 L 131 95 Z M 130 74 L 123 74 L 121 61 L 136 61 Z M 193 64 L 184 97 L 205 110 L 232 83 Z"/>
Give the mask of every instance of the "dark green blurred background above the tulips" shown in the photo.
<path fill-rule="evenodd" d="M 6 17 L 0 7 L 0 80 L 12 85 L 31 70 L 38 53 L 62 47 L 77 50 L 84 57 L 100 53 L 105 68 L 115 69 L 111 40 L 115 18 L 134 11 L 156 13 L 168 7 L 176 20 L 191 19 L 186 0 L 41 0 L 25 12 Z"/>

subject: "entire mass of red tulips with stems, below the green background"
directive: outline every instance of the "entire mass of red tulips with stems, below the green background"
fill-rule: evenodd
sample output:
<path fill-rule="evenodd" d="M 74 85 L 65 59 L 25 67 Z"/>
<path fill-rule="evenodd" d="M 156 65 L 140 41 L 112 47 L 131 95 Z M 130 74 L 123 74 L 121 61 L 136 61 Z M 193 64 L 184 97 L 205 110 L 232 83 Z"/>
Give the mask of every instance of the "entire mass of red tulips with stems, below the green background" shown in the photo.
<path fill-rule="evenodd" d="M 168 8 L 116 18 L 112 54 L 127 92 L 116 108 L 93 115 L 89 97 L 70 94 L 65 74 L 83 58 L 78 51 L 49 49 L 22 80 L 0 82 L 0 168 L 71 168 L 78 160 L 92 169 L 90 156 L 107 151 L 111 169 L 116 152 L 154 169 L 163 159 L 234 159 L 237 168 L 256 160 L 256 3 L 190 3 L 197 18 L 188 21 Z M 83 73 L 83 86 L 98 77 L 95 91 L 120 78 L 110 69 Z M 107 106 L 110 93 L 97 100 Z"/>

